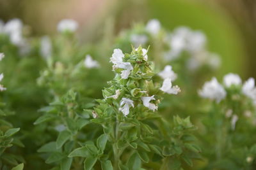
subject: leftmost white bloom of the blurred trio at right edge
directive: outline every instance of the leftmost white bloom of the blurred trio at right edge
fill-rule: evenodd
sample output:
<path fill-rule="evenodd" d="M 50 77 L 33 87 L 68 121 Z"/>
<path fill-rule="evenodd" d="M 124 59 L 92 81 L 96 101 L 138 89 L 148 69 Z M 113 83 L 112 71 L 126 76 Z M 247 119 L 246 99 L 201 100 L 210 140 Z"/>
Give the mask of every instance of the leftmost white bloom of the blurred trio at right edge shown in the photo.
<path fill-rule="evenodd" d="M 204 83 L 202 90 L 199 90 L 199 95 L 204 98 L 216 100 L 218 103 L 226 97 L 227 92 L 214 77 L 211 81 Z"/>

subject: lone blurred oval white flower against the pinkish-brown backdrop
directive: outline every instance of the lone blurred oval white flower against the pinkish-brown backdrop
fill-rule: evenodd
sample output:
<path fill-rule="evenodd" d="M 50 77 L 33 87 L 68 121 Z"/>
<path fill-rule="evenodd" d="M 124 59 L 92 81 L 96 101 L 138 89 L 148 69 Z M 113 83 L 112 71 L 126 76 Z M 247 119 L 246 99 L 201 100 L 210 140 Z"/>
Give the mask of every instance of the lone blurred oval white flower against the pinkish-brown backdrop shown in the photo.
<path fill-rule="evenodd" d="M 59 32 L 75 32 L 78 28 L 78 23 L 75 20 L 63 19 L 58 23 L 57 30 Z"/>

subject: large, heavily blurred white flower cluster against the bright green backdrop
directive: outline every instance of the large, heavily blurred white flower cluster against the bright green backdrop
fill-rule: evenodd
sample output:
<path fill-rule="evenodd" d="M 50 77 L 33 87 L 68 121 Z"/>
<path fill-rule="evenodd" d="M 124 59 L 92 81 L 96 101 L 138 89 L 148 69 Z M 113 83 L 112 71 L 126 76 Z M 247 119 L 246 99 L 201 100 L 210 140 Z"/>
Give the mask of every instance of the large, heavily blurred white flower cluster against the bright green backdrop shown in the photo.
<path fill-rule="evenodd" d="M 209 65 L 216 69 L 220 66 L 220 57 L 206 50 L 207 38 L 201 31 L 192 31 L 188 27 L 178 27 L 166 38 L 170 50 L 165 53 L 166 60 L 177 59 L 182 52 L 189 53 L 187 66 L 195 70 L 200 66 Z"/>

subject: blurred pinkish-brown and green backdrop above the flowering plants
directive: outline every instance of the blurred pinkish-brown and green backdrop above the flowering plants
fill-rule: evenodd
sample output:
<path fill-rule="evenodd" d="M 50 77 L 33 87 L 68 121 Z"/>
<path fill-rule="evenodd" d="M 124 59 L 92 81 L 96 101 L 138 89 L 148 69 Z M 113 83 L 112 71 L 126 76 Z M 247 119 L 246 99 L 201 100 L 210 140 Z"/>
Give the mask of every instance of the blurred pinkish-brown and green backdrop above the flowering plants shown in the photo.
<path fill-rule="evenodd" d="M 180 25 L 205 32 L 209 50 L 222 57 L 220 76 L 239 73 L 256 77 L 255 0 L 1 0 L 0 19 L 20 18 L 28 34 L 55 34 L 63 18 L 79 22 L 81 41 L 92 43 L 109 34 L 118 34 L 134 22 L 157 18 L 172 31 Z"/>

